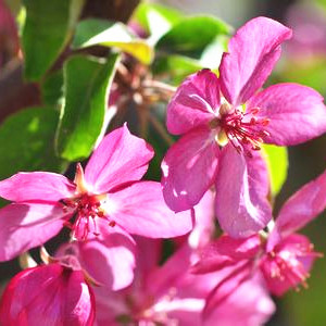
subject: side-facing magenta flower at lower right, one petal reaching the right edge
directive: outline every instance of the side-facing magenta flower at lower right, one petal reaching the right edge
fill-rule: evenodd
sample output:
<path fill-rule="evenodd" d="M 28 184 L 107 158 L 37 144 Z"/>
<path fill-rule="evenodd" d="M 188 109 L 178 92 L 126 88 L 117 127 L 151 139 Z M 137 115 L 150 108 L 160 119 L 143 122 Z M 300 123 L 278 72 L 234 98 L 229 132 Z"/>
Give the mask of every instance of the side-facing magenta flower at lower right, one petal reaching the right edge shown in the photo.
<path fill-rule="evenodd" d="M 252 275 L 264 277 L 269 291 L 284 294 L 300 284 L 305 286 L 309 271 L 321 254 L 310 240 L 296 231 L 326 208 L 326 172 L 297 191 L 281 208 L 269 235 L 246 239 L 222 236 L 202 252 L 195 273 L 226 269 L 206 302 L 210 313 Z"/>

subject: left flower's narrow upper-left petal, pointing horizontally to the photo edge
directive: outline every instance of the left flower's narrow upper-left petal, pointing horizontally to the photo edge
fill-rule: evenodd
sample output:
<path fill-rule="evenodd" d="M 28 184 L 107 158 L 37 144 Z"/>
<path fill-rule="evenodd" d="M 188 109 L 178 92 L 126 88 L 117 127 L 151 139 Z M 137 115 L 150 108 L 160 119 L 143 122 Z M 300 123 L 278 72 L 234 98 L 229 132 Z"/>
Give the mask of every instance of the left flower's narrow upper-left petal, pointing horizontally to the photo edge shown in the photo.
<path fill-rule="evenodd" d="M 11 201 L 59 201 L 74 195 L 75 186 L 66 177 L 50 172 L 17 173 L 0 181 L 0 196 Z"/>

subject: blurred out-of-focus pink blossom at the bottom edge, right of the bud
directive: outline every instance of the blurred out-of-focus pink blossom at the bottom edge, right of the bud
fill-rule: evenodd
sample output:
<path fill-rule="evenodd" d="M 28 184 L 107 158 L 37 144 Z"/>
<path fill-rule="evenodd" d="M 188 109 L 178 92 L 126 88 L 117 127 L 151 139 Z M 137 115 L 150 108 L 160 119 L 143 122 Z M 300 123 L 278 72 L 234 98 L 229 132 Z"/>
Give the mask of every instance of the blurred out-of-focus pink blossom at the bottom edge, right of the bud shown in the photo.
<path fill-rule="evenodd" d="M 146 260 L 136 269 L 134 283 L 121 291 L 96 288 L 97 324 L 120 325 L 120 322 L 137 325 L 233 325 L 256 326 L 266 322 L 275 306 L 266 290 L 258 280 L 243 283 L 237 291 L 205 319 L 202 311 L 205 298 L 221 278 L 221 273 L 193 275 L 189 273 L 191 250 L 184 246 L 161 267 L 151 258 L 155 249 L 152 240 L 143 243 L 151 248 L 150 261 Z M 149 250 L 142 251 L 147 254 Z M 146 264 L 145 264 L 146 262 Z M 243 296 L 250 291 L 250 296 Z M 240 317 L 240 318 L 239 318 Z M 240 323 L 241 321 L 241 323 Z"/>

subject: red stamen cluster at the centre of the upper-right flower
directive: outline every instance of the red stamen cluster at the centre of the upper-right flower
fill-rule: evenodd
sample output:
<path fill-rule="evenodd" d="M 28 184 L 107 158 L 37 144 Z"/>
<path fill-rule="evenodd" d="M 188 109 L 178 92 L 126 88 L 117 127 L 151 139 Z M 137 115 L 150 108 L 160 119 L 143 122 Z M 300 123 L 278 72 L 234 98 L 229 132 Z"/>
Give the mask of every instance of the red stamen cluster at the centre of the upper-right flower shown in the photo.
<path fill-rule="evenodd" d="M 244 152 L 252 156 L 251 150 L 260 150 L 264 138 L 269 136 L 265 130 L 269 120 L 258 117 L 260 109 L 252 109 L 243 113 L 239 108 L 231 108 L 223 103 L 220 108 L 220 116 L 210 122 L 210 127 L 217 129 L 216 141 L 225 146 L 228 141 L 238 152 Z"/>

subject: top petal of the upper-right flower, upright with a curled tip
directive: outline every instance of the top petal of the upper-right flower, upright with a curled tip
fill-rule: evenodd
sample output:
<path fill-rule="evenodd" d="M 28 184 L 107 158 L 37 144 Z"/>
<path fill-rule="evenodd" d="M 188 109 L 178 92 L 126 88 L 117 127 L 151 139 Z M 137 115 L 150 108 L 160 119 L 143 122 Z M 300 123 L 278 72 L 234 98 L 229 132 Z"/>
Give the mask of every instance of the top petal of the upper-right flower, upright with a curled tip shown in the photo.
<path fill-rule="evenodd" d="M 221 88 L 234 105 L 244 103 L 263 86 L 291 30 L 276 21 L 256 17 L 238 29 L 220 66 Z"/>

